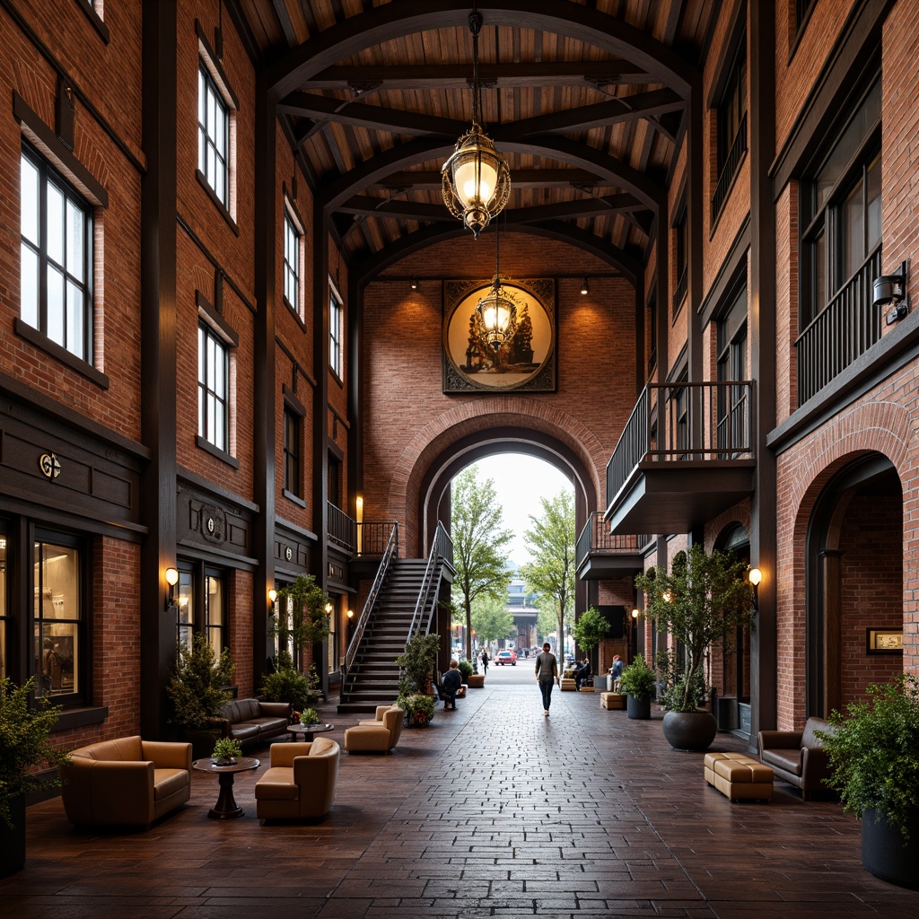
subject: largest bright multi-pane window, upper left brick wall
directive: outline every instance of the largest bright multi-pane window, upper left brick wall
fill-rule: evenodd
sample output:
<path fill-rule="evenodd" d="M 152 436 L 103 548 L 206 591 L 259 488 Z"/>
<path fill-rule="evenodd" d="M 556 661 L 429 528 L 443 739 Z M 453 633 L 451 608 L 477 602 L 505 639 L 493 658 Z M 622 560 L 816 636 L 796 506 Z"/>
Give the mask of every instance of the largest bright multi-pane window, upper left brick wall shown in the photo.
<path fill-rule="evenodd" d="M 92 210 L 28 146 L 20 158 L 20 189 L 20 317 L 91 363 Z"/>

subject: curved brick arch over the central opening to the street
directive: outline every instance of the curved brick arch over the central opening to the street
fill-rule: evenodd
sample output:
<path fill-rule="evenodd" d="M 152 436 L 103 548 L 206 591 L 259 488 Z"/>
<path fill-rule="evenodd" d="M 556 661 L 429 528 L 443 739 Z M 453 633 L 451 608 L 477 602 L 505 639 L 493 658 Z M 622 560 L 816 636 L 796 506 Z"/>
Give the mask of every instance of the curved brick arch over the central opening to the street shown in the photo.
<path fill-rule="evenodd" d="M 608 457 L 606 448 L 583 422 L 550 403 L 534 403 L 519 395 L 496 395 L 454 405 L 437 415 L 424 430 L 419 431 L 405 445 L 396 461 L 390 480 L 387 498 L 389 518 L 399 520 L 406 530 L 406 544 L 414 546 L 418 537 L 415 521 L 423 501 L 425 479 L 429 478 L 437 463 L 445 456 L 459 451 L 460 443 L 480 435 L 498 436 L 503 428 L 518 432 L 514 440 L 526 444 L 527 432 L 539 437 L 542 444 L 547 438 L 561 448 L 556 452 L 558 465 L 570 471 L 581 482 L 581 491 L 596 501 L 604 494 L 599 470 Z M 503 449 L 510 448 L 510 441 Z M 526 452 L 526 450 L 522 450 Z M 573 457 L 572 461 L 563 455 Z M 593 509 L 593 508 L 591 508 Z"/>

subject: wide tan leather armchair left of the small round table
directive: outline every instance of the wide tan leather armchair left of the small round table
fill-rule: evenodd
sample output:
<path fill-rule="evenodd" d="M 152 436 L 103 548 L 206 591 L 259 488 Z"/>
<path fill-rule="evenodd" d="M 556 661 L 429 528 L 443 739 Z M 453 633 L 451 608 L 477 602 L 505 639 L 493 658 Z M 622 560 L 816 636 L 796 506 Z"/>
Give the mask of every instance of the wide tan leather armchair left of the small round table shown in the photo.
<path fill-rule="evenodd" d="M 81 747 L 61 766 L 71 823 L 150 826 L 191 797 L 191 744 L 119 737 Z"/>

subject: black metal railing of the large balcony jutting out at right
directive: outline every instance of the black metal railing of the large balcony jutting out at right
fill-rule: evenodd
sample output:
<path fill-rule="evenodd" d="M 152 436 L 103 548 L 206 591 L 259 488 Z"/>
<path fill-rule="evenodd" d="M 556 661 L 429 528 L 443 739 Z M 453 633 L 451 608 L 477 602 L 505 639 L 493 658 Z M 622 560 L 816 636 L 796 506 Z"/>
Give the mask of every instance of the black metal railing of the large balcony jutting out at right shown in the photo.
<path fill-rule="evenodd" d="M 643 461 L 754 459 L 752 405 L 750 380 L 649 383 L 607 463 L 607 500 Z"/>

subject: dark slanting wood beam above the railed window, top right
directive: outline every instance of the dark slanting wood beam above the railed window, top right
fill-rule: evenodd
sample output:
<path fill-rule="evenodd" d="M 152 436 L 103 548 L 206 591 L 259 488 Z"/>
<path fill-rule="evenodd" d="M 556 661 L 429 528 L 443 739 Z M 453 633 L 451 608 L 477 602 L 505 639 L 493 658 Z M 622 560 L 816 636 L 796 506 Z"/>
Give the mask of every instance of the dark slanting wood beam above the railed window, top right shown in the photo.
<path fill-rule="evenodd" d="M 856 0 L 820 74 L 800 108 L 794 127 L 769 166 L 773 199 L 800 175 L 826 140 L 839 116 L 843 96 L 857 85 L 872 56 L 880 48 L 884 20 L 894 0 Z"/>

